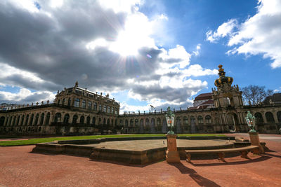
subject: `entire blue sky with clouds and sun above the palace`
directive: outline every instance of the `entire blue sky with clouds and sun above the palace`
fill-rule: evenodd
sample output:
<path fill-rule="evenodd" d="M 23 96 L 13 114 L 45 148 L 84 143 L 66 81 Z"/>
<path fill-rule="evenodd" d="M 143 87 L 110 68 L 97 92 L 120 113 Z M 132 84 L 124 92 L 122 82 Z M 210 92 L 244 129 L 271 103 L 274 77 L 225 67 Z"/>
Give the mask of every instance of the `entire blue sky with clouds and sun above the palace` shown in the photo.
<path fill-rule="evenodd" d="M 240 88 L 281 92 L 281 1 L 2 0 L 0 102 L 74 86 L 124 111 L 186 109 L 218 64 Z"/>

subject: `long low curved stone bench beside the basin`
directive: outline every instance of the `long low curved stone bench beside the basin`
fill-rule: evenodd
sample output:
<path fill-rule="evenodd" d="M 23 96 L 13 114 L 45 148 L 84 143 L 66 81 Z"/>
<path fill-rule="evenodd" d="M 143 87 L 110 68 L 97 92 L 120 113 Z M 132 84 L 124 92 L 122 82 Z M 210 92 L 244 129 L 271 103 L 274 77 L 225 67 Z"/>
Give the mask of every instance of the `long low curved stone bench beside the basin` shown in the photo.
<path fill-rule="evenodd" d="M 223 162 L 226 162 L 226 160 L 224 160 L 225 153 L 240 152 L 242 158 L 248 158 L 247 155 L 249 151 L 259 154 L 259 146 L 245 146 L 240 148 L 222 148 L 222 149 L 208 149 L 208 150 L 185 150 L 185 154 L 186 154 L 186 161 L 188 162 L 191 162 L 191 154 L 212 154 L 212 153 L 217 153 L 218 158 Z"/>

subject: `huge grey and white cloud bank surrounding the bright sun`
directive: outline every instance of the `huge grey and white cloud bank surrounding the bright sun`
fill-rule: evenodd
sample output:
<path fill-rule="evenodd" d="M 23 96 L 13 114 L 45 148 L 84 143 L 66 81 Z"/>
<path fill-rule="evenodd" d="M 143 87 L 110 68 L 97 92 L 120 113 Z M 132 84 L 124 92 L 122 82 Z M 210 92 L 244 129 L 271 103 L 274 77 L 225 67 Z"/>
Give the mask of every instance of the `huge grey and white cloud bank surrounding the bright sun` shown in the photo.
<path fill-rule="evenodd" d="M 152 36 L 163 36 L 159 28 L 169 18 L 149 19 L 138 11 L 142 1 L 36 2 L 0 2 L 0 85 L 37 90 L 30 97 L 43 99 L 79 81 L 94 92 L 130 90 L 141 100 L 184 103 L 207 87 L 187 77 L 214 74 L 189 66 L 183 46 L 156 45 Z M 4 94 L 11 95 L 3 92 L 0 99 Z"/>

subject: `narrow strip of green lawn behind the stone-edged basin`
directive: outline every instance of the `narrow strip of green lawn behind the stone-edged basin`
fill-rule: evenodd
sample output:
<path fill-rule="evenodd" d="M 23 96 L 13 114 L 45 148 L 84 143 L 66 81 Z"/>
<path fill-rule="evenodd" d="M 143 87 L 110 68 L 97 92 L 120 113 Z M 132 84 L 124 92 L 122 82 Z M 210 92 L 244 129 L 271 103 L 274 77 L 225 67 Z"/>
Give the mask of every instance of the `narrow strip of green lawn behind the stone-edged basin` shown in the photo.
<path fill-rule="evenodd" d="M 46 143 L 55 140 L 74 140 L 74 139 L 99 139 L 112 137 L 164 137 L 165 134 L 110 134 L 110 135 L 91 135 L 91 136 L 77 136 L 77 137 L 48 137 L 48 138 L 34 138 L 25 140 L 0 141 L 0 146 L 25 146 L 34 145 L 37 143 Z M 224 134 L 178 134 L 179 137 L 225 137 Z"/>

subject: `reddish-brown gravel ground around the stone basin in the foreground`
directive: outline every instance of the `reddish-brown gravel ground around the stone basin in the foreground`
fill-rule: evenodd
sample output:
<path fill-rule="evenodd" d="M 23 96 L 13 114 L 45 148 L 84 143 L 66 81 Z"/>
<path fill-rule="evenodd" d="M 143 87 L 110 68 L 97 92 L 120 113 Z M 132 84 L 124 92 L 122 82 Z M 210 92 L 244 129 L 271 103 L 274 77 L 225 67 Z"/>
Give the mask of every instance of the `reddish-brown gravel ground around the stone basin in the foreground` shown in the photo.
<path fill-rule="evenodd" d="M 231 134 L 247 137 L 246 134 Z M 280 135 L 263 135 L 270 152 L 250 160 L 121 165 L 70 155 L 30 153 L 34 146 L 0 147 L 0 186 L 281 186 Z"/>

